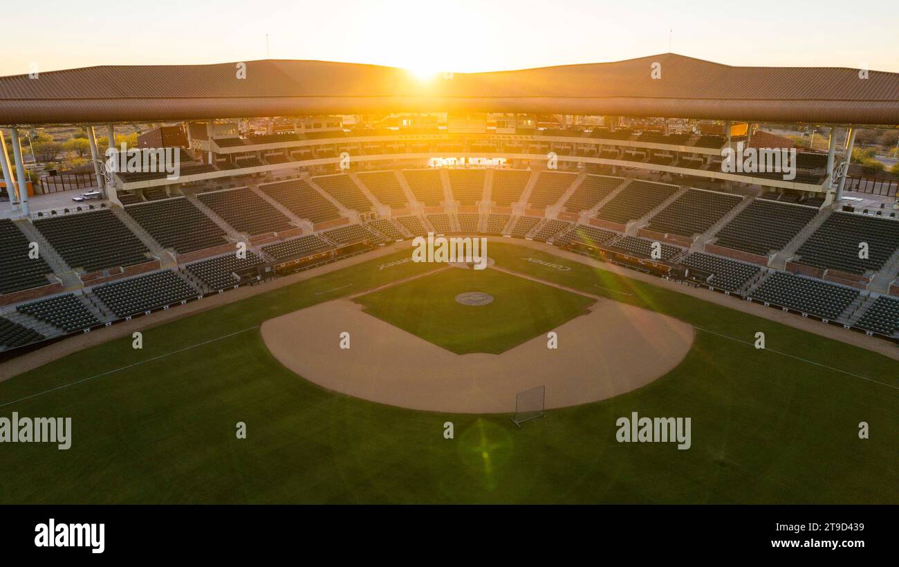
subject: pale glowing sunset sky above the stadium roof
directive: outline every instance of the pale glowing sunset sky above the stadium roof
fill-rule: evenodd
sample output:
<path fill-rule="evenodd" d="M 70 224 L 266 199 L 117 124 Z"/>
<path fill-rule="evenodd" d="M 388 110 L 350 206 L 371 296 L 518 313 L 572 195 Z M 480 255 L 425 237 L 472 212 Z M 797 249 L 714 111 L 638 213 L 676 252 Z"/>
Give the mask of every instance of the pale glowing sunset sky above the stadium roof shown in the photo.
<path fill-rule="evenodd" d="M 3 20 L 0 75 L 28 73 L 31 65 L 50 71 L 266 57 L 470 72 L 669 50 L 729 65 L 899 72 L 895 0 L 41 0 L 7 6 Z"/>

